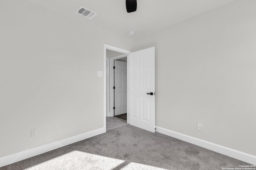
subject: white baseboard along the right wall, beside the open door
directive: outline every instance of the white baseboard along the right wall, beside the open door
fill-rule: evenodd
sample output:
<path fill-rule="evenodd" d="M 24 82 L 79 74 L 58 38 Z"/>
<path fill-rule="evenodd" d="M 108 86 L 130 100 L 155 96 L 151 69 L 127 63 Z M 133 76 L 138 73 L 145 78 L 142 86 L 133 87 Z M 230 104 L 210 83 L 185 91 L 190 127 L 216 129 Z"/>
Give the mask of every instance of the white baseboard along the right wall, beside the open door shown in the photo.
<path fill-rule="evenodd" d="M 244 152 L 240 152 L 238 150 L 230 149 L 230 148 L 227 148 L 227 147 L 223 147 L 221 145 L 217 145 L 215 143 L 210 143 L 208 141 L 204 141 L 204 140 L 201 140 L 201 139 L 198 139 L 198 138 L 195 138 L 195 137 L 184 135 L 182 133 L 170 131 L 170 130 L 164 129 L 162 127 L 155 126 L 155 128 L 156 128 L 156 132 L 162 133 L 164 135 L 174 137 L 176 139 L 180 139 L 180 140 L 188 142 L 188 143 L 192 143 L 192 144 L 197 145 L 199 147 L 203 147 L 203 148 L 212 150 L 214 152 L 218 152 L 220 154 L 230 156 L 230 157 L 238 159 L 238 160 L 242 160 L 242 161 L 247 162 L 249 164 L 256 165 L 256 156 L 254 156 L 254 155 L 247 154 L 247 153 L 244 153 Z"/>

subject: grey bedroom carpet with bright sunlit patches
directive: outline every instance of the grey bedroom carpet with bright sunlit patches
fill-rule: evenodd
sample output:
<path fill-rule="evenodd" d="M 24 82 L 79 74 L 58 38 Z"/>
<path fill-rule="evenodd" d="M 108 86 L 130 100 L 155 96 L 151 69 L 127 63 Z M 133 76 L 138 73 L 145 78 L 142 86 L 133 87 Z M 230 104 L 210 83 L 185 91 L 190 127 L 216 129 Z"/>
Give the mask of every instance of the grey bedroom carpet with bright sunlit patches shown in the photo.
<path fill-rule="evenodd" d="M 248 163 L 124 125 L 0 170 L 221 170 Z"/>

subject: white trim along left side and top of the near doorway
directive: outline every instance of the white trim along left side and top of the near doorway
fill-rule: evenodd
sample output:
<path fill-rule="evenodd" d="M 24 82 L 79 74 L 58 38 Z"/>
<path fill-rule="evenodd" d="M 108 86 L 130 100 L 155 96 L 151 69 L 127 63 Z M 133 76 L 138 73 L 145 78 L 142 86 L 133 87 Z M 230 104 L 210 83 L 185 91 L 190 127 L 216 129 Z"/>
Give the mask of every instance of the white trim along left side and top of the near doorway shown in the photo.
<path fill-rule="evenodd" d="M 104 61 L 104 90 L 103 90 L 103 125 L 104 125 L 104 133 L 106 132 L 106 50 L 111 50 L 111 51 L 116 51 L 116 52 L 119 52 L 119 53 L 124 53 L 124 54 L 128 54 L 130 53 L 130 51 L 128 50 L 125 50 L 125 49 L 120 49 L 118 47 L 114 47 L 114 46 L 111 46 L 111 45 L 106 45 L 104 44 L 104 58 L 103 58 L 103 61 Z M 110 62 L 112 63 L 112 62 Z M 110 64 L 111 65 L 111 64 Z M 127 66 L 128 67 L 128 66 Z M 110 69 L 112 70 L 112 69 Z M 128 72 L 128 70 L 127 70 Z M 128 78 L 128 75 L 127 75 L 127 78 Z M 111 88 L 110 88 L 111 90 Z M 127 96 L 128 96 L 128 86 L 127 86 Z M 127 101 L 128 102 L 128 101 Z M 110 105 L 111 107 L 111 105 Z M 128 106 L 127 106 L 128 107 Z M 128 110 L 127 110 L 127 116 L 128 116 Z M 127 121 L 128 123 L 128 121 Z"/>

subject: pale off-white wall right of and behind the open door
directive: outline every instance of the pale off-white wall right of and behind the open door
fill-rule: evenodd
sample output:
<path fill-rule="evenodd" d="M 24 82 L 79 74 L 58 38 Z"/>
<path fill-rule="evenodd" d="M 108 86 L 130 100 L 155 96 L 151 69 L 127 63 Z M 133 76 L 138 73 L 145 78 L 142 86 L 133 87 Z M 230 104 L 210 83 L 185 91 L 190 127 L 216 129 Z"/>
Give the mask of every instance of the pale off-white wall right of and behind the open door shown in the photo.
<path fill-rule="evenodd" d="M 255 9 L 236 0 L 134 39 L 156 47 L 156 126 L 256 155 Z"/>

